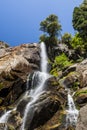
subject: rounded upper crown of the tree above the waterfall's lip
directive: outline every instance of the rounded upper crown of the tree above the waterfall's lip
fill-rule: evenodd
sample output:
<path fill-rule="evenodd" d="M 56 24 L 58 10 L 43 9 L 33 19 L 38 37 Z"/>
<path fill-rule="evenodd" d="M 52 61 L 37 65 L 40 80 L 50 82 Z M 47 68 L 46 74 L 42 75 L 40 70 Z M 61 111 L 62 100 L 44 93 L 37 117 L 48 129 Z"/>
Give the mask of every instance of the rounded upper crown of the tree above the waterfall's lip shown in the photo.
<path fill-rule="evenodd" d="M 40 23 L 40 30 L 45 32 L 46 35 L 49 35 L 50 37 L 58 36 L 61 30 L 58 17 L 54 14 L 49 15 Z"/>

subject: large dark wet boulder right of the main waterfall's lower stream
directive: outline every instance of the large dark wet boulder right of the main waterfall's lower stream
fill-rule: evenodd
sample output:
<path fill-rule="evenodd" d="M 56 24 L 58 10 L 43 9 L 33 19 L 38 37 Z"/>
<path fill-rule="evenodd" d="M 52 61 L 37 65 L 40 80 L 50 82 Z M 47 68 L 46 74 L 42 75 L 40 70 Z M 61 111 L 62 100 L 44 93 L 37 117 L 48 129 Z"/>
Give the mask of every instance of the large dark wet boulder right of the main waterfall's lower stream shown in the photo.
<path fill-rule="evenodd" d="M 26 130 L 34 130 L 43 126 L 57 111 L 63 110 L 66 104 L 66 93 L 58 86 L 56 78 L 52 77 L 45 83 L 44 91 L 34 102 L 28 112 L 25 124 Z"/>

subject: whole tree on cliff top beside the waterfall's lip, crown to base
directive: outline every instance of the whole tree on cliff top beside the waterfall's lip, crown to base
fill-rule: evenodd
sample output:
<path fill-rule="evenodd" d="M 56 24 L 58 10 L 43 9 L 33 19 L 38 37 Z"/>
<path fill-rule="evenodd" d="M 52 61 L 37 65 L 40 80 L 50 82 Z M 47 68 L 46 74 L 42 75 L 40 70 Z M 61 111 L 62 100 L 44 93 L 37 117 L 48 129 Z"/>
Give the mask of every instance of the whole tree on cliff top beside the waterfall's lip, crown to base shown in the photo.
<path fill-rule="evenodd" d="M 40 30 L 44 32 L 40 36 L 40 41 L 46 43 L 48 53 L 53 54 L 53 48 L 57 44 L 57 37 L 61 32 L 61 25 L 58 17 L 54 14 L 49 15 L 45 20 L 40 23 Z"/>

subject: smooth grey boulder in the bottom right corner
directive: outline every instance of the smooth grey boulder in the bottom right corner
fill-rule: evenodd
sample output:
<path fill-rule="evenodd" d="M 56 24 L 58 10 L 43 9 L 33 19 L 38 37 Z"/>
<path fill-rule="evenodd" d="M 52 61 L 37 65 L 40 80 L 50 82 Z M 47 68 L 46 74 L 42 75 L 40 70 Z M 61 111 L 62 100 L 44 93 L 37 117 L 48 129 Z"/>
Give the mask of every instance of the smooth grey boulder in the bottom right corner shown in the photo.
<path fill-rule="evenodd" d="M 87 130 L 87 105 L 80 109 L 76 130 Z"/>

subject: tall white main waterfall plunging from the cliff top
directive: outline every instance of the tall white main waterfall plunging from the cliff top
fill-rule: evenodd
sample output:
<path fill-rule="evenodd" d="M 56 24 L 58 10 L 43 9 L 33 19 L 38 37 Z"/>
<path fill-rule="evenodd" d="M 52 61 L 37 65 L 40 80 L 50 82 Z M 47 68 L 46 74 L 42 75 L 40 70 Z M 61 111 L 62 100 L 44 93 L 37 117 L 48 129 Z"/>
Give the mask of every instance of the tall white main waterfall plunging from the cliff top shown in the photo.
<path fill-rule="evenodd" d="M 35 89 L 32 89 L 29 93 L 29 96 L 32 97 L 31 101 L 27 104 L 24 112 L 23 117 L 23 124 L 21 126 L 21 129 L 25 129 L 25 124 L 27 120 L 27 114 L 30 111 L 32 105 L 39 99 L 40 95 L 44 92 L 44 83 L 48 79 L 49 74 L 47 74 L 47 54 L 46 54 L 46 48 L 45 44 L 41 43 L 41 72 L 35 72 L 33 75 L 33 81 L 35 77 L 38 77 L 37 85 L 35 86 Z M 32 82 L 32 86 L 33 86 Z"/>

